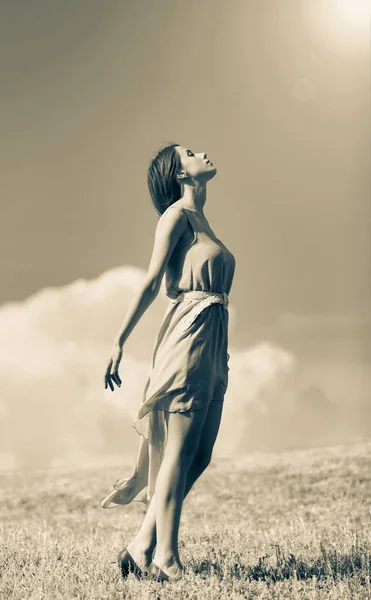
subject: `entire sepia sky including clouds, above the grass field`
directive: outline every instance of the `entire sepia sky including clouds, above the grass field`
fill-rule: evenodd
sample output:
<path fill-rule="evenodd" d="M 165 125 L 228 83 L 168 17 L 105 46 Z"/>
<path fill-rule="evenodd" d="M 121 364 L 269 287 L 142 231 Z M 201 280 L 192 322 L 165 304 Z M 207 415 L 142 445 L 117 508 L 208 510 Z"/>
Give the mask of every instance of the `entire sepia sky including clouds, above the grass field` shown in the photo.
<path fill-rule="evenodd" d="M 168 142 L 237 263 L 215 452 L 370 436 L 367 2 L 13 0 L 0 61 L 0 468 L 136 454 L 164 289 L 103 377 Z"/>

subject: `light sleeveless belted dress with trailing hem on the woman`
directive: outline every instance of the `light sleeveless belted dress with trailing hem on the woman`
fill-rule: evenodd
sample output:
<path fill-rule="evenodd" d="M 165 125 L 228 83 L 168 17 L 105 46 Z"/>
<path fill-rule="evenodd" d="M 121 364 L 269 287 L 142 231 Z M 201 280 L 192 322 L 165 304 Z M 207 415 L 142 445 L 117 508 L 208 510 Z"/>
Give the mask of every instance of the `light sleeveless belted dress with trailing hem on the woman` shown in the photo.
<path fill-rule="evenodd" d="M 205 217 L 178 201 L 167 211 L 176 206 L 188 217 L 192 239 L 179 242 L 166 271 L 170 302 L 133 423 L 141 436 L 135 468 L 116 481 L 114 491 L 101 501 L 102 508 L 130 502 L 148 506 L 166 447 L 167 411 L 186 412 L 223 402 L 228 386 L 228 294 L 235 257 Z"/>

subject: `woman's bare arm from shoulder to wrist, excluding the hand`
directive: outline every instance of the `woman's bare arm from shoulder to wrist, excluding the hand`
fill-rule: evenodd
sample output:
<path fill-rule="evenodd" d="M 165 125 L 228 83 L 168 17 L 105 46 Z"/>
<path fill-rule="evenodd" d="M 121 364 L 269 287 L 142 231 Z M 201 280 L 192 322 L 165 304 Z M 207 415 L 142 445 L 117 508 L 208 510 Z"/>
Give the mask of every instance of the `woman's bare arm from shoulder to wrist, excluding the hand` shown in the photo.
<path fill-rule="evenodd" d="M 145 281 L 128 308 L 115 338 L 114 347 L 122 348 L 135 325 L 158 295 L 169 259 L 186 228 L 187 217 L 178 207 L 171 208 L 160 217 Z"/>

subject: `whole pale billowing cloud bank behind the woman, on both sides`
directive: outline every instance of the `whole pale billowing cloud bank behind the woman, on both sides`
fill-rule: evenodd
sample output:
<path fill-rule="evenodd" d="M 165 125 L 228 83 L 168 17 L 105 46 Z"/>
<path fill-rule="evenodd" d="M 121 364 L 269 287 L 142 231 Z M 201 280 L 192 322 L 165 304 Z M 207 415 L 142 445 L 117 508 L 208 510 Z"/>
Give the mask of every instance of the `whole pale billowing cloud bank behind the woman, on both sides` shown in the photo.
<path fill-rule="evenodd" d="M 123 386 L 104 390 L 103 378 L 113 339 L 144 276 L 137 267 L 117 267 L 0 308 L 0 467 L 136 454 L 133 420 L 168 305 L 164 286 L 124 347 Z M 230 308 L 233 331 L 237 315 Z M 230 345 L 229 353 L 216 455 L 318 441 L 316 422 L 325 431 L 334 407 L 319 387 L 300 389 L 291 352 L 263 340 L 250 348 Z M 303 415 L 311 427 L 303 427 Z"/>

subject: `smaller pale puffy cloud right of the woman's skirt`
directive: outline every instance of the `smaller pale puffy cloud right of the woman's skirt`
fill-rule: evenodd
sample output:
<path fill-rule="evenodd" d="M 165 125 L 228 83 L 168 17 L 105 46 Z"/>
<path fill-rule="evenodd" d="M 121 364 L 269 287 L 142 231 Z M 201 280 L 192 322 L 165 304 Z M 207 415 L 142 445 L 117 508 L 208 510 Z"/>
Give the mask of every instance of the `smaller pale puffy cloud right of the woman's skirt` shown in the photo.
<path fill-rule="evenodd" d="M 216 454 L 336 443 L 342 415 L 319 384 L 303 387 L 296 357 L 269 341 L 231 357 Z"/>

